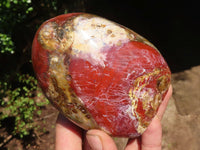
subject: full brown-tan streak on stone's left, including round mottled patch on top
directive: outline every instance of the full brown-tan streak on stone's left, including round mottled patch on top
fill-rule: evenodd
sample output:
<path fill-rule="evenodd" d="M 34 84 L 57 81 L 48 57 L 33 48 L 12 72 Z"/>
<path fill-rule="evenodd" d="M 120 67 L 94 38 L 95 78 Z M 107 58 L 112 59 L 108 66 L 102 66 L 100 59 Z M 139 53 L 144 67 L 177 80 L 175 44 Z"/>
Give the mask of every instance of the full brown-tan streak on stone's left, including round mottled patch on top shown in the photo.
<path fill-rule="evenodd" d="M 43 26 L 38 41 L 49 53 L 49 87 L 45 93 L 60 112 L 84 129 L 97 128 L 91 114 L 70 87 L 71 75 L 68 71 L 73 42 L 73 21 L 62 25 L 49 22 Z"/>

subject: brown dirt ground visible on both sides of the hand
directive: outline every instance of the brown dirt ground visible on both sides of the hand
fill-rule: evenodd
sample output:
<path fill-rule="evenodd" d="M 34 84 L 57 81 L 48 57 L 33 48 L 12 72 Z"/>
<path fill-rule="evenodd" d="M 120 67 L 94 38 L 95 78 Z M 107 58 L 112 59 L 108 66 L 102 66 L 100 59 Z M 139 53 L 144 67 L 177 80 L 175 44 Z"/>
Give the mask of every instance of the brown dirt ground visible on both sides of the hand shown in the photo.
<path fill-rule="evenodd" d="M 163 150 L 200 149 L 200 66 L 172 75 L 173 96 L 162 120 Z M 51 105 L 43 108 L 39 130 L 23 139 L 10 137 L 0 128 L 0 143 L 10 138 L 1 150 L 53 150 L 58 112 Z M 115 139 L 122 150 L 127 139 Z"/>

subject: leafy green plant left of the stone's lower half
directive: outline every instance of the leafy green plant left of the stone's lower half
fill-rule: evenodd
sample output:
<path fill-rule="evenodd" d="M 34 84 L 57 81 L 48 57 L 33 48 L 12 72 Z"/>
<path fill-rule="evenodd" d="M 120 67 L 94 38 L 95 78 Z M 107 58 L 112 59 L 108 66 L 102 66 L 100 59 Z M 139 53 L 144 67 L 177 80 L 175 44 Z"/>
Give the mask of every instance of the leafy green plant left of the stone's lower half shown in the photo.
<path fill-rule="evenodd" d="M 0 120 L 14 118 L 12 134 L 22 138 L 28 135 L 31 129 L 37 127 L 34 116 L 41 114 L 41 107 L 47 105 L 48 100 L 35 101 L 35 98 L 41 96 L 41 91 L 36 93 L 37 80 L 34 77 L 23 74 L 17 75 L 15 80 L 17 86 L 0 82 L 0 106 L 2 107 Z"/>

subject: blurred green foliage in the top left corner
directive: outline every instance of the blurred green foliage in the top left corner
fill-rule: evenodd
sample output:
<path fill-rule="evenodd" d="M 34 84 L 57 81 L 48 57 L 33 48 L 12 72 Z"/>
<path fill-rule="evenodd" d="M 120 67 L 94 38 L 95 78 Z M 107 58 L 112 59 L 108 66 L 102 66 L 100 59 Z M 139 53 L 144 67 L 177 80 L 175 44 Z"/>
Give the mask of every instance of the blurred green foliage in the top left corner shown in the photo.
<path fill-rule="evenodd" d="M 1 0 L 0 3 L 0 53 L 14 54 L 11 39 L 13 28 L 23 22 L 33 11 L 31 0 Z"/>

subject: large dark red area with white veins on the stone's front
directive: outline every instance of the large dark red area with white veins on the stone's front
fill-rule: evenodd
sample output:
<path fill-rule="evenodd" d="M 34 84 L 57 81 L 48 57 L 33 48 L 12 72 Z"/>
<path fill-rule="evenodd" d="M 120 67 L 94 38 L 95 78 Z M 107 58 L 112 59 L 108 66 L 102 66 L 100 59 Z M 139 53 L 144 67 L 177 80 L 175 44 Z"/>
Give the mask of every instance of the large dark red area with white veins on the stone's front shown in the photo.
<path fill-rule="evenodd" d="M 132 41 L 118 50 L 113 47 L 104 53 L 107 53 L 105 67 L 72 58 L 69 68 L 73 79 L 71 86 L 100 126 L 111 129 L 116 136 L 136 133 L 133 124 L 137 124 L 137 120 L 131 120 L 125 114 L 131 106 L 130 87 L 134 79 L 156 68 L 164 70 L 159 76 L 169 73 L 168 66 L 157 50 L 141 42 Z M 148 85 L 155 93 L 157 78 L 152 77 L 152 84 Z M 141 101 L 137 111 L 145 117 Z"/>

